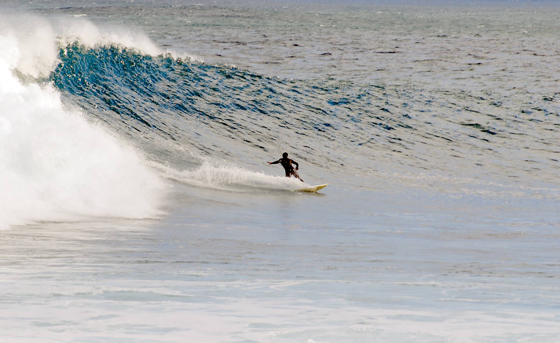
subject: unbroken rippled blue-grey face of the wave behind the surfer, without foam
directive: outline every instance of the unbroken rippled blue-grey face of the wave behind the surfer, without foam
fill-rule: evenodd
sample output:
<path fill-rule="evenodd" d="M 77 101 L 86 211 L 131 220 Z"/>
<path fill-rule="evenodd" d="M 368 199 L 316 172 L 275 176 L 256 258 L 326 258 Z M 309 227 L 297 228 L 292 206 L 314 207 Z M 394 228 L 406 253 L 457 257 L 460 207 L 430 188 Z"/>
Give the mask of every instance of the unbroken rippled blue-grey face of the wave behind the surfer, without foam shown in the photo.
<path fill-rule="evenodd" d="M 259 165 L 284 150 L 319 174 L 368 177 L 354 184 L 436 182 L 485 192 L 519 178 L 534 190 L 558 173 L 556 94 L 278 79 L 79 42 L 62 46 L 59 59 L 50 79 L 69 100 L 187 173 L 205 157 Z"/>

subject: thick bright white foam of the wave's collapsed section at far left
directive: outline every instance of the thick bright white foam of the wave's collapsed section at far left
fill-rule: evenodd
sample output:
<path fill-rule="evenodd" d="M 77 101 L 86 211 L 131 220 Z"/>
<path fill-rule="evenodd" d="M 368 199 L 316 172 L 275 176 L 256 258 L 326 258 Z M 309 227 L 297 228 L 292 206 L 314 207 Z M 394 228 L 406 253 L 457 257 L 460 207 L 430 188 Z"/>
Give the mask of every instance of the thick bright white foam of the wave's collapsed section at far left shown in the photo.
<path fill-rule="evenodd" d="M 0 34 L 0 228 L 160 213 L 164 182 L 136 152 L 64 109 L 54 88 L 13 75 L 14 68 L 35 76 L 48 69 L 53 31 L 13 32 Z"/>

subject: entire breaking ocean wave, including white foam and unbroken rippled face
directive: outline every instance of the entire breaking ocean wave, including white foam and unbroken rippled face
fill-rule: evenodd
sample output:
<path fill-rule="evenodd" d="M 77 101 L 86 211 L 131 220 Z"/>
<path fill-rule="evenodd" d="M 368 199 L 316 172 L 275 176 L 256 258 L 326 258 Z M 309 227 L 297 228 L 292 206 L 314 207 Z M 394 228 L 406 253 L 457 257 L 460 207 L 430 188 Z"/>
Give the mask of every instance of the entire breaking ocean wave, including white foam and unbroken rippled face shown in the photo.
<path fill-rule="evenodd" d="M 162 51 L 141 33 L 83 18 L 11 17 L 0 28 L 3 227 L 70 214 L 157 215 L 162 177 L 293 189 L 293 180 L 250 170 L 284 151 L 307 181 L 308 172 L 349 175 L 353 185 L 445 192 L 466 178 L 474 190 L 519 178 L 516 196 L 556 194 L 556 93 L 279 79 Z M 240 161 L 247 170 L 232 167 Z M 427 177 L 395 180 L 408 173 Z"/>

